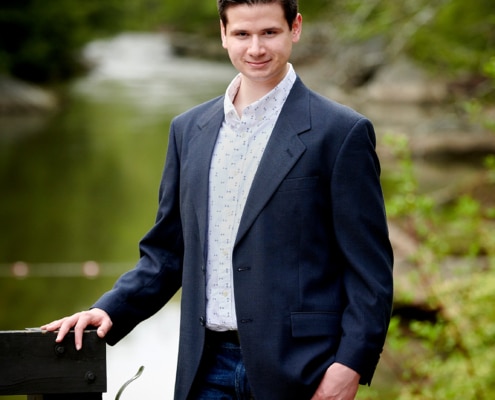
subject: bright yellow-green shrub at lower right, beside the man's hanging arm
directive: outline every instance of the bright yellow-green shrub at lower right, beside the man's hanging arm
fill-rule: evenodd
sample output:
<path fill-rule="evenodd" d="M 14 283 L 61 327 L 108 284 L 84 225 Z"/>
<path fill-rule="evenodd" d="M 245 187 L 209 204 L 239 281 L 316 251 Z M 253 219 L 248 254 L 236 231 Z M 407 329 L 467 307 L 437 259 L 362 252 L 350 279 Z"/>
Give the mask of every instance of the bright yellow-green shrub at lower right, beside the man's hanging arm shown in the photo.
<path fill-rule="evenodd" d="M 491 71 L 488 66 L 487 71 Z M 490 75 L 490 78 L 494 78 Z M 476 102 L 476 111 L 483 108 Z M 408 141 L 387 138 L 399 161 L 389 217 L 419 244 L 409 279 L 427 294 L 437 321 L 394 317 L 387 348 L 398 370 L 397 399 L 491 399 L 495 395 L 495 212 L 469 195 L 441 206 L 418 193 Z M 495 178 L 495 157 L 485 165 Z M 407 301 L 412 294 L 398 293 Z M 405 300 L 404 300 L 405 299 Z M 390 356 L 389 356 L 390 357 Z"/>

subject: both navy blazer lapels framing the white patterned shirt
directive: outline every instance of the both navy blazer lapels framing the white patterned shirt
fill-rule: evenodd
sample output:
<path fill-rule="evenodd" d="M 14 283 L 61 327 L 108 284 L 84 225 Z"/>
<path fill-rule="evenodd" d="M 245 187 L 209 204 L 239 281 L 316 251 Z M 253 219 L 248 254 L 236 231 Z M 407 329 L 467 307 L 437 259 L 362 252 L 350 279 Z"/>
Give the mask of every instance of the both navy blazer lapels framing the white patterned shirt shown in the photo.
<path fill-rule="evenodd" d="M 199 173 L 191 182 L 197 191 L 196 212 L 200 238 L 206 244 L 208 229 L 208 184 L 210 163 L 218 132 L 224 119 L 223 96 L 214 101 L 198 119 L 194 139 L 195 161 Z M 299 160 L 306 147 L 298 135 L 311 127 L 309 90 L 298 77 L 280 112 L 254 177 L 237 233 L 236 244 L 249 230 L 280 183 Z M 206 249 L 206 246 L 203 248 Z"/>

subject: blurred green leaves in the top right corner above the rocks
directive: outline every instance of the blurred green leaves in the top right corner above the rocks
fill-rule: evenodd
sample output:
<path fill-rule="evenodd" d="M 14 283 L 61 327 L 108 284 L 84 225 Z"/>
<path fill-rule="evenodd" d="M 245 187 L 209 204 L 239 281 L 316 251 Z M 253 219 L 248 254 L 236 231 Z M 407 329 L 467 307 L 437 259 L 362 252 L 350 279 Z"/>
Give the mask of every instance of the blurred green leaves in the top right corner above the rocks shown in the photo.
<path fill-rule="evenodd" d="M 347 37 L 382 37 L 391 56 L 405 52 L 443 74 L 479 73 L 495 48 L 492 0 L 340 0 L 328 11 Z"/>

